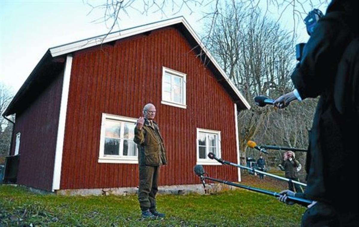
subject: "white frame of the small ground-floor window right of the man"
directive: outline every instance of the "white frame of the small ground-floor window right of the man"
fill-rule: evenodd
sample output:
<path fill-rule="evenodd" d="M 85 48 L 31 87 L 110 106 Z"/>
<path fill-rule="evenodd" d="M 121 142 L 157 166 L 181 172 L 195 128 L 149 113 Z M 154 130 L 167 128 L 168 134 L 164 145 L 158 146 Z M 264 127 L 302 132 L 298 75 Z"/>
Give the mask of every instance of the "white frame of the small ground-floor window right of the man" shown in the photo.
<path fill-rule="evenodd" d="M 210 133 L 210 134 L 216 134 L 218 137 L 218 154 L 217 157 L 221 158 L 222 157 L 222 150 L 221 150 L 221 132 L 220 131 L 215 131 L 215 130 L 209 130 L 209 129 L 201 129 L 201 128 L 197 128 L 197 133 L 196 133 L 196 155 L 197 155 L 197 163 L 196 165 L 222 165 L 221 163 L 217 162 L 214 159 L 210 159 L 208 156 L 206 156 L 206 159 L 200 158 L 200 153 L 199 153 L 199 133 Z M 207 135 L 206 135 L 207 136 Z M 206 140 L 208 141 L 208 139 Z M 206 154 L 208 154 L 208 145 L 206 144 Z"/>

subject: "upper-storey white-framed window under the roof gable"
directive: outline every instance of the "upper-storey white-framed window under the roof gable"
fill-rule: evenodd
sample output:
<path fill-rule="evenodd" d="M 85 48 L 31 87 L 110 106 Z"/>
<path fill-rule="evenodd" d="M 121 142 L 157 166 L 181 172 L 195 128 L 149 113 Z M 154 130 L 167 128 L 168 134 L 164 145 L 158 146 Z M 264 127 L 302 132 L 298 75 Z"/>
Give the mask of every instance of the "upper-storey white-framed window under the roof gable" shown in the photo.
<path fill-rule="evenodd" d="M 186 108 L 186 74 L 163 67 L 161 103 Z"/>

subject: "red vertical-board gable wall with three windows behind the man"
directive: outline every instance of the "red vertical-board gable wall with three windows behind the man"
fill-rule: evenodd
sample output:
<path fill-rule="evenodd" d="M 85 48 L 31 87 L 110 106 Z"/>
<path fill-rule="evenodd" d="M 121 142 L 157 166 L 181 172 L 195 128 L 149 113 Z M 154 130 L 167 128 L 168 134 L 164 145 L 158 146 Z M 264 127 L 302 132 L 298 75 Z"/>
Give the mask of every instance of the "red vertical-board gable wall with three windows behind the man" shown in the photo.
<path fill-rule="evenodd" d="M 200 184 L 196 128 L 221 131 L 222 157 L 237 162 L 233 101 L 175 28 L 74 53 L 60 189 L 133 187 L 137 164 L 98 163 L 102 113 L 141 116 L 157 108 L 169 165 L 160 185 Z M 187 109 L 161 104 L 162 66 L 187 74 Z M 238 180 L 237 168 L 204 166 L 211 177 Z"/>

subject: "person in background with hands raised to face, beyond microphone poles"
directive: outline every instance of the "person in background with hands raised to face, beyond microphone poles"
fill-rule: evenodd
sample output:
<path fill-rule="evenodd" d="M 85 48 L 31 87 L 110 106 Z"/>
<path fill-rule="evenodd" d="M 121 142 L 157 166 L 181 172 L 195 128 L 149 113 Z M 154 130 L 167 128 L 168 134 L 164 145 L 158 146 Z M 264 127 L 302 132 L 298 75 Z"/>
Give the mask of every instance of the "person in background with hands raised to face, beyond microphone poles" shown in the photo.
<path fill-rule="evenodd" d="M 295 154 L 293 151 L 288 150 L 283 154 L 283 161 L 278 165 L 279 168 L 285 172 L 285 177 L 294 181 L 299 182 L 298 172 L 302 169 L 302 165 L 298 160 L 295 159 Z M 303 193 L 303 189 L 300 185 L 294 184 L 293 182 L 288 181 L 289 190 L 295 191 L 297 193 Z"/>

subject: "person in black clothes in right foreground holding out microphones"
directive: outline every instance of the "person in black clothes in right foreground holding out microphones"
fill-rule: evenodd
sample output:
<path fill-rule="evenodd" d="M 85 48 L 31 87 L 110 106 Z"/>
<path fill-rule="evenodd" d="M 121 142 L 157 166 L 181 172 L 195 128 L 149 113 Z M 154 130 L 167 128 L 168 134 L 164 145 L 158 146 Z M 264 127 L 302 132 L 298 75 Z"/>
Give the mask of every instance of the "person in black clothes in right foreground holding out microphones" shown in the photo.
<path fill-rule="evenodd" d="M 357 0 L 332 0 L 304 46 L 294 72 L 293 92 L 274 102 L 284 108 L 293 100 L 320 96 L 312 129 L 303 194 L 314 200 L 302 226 L 359 226 L 359 36 Z M 315 204 L 315 205 L 314 205 Z"/>

